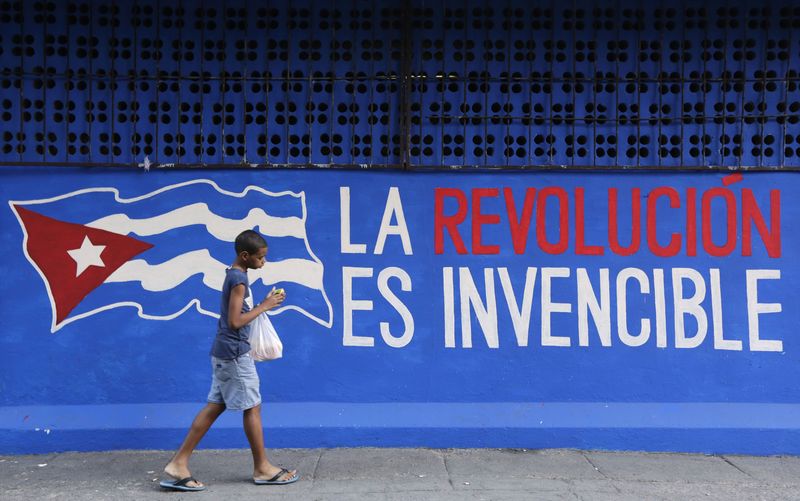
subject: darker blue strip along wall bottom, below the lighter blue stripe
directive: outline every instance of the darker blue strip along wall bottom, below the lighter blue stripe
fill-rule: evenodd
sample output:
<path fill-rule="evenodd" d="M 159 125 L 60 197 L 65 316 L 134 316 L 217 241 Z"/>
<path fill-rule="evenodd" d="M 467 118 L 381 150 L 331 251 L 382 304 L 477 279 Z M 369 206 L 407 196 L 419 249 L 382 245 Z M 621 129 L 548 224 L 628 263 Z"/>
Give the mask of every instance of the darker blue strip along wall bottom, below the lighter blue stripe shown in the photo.
<path fill-rule="evenodd" d="M 50 434 L 0 430 L 0 453 L 177 449 L 184 429 L 69 430 Z M 715 454 L 800 455 L 800 430 L 364 429 L 265 430 L 268 448 L 433 447 L 575 448 Z M 200 448 L 247 448 L 241 429 L 211 429 Z"/>

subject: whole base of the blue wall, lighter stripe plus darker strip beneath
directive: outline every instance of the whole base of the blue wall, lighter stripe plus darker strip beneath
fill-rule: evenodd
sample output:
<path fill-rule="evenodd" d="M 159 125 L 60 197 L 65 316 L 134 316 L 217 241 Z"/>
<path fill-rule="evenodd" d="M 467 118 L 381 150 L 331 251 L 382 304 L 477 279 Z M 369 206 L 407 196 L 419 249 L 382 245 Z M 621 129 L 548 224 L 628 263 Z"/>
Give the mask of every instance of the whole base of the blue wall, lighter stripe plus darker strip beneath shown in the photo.
<path fill-rule="evenodd" d="M 0 454 L 176 449 L 203 403 L 0 407 Z M 498 447 L 800 455 L 796 404 L 267 403 L 269 448 Z M 247 448 L 240 412 L 203 448 Z M 57 425 L 51 423 L 58 423 Z"/>

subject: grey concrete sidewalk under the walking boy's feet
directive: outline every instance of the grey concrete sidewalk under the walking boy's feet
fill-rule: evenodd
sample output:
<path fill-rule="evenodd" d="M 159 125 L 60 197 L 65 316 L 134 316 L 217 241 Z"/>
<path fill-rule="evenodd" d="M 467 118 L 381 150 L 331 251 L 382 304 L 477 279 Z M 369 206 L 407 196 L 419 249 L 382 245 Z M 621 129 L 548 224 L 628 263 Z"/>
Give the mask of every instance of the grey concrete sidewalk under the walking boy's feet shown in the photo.
<path fill-rule="evenodd" d="M 158 487 L 169 451 L 0 456 L 0 499 L 800 499 L 800 457 L 576 450 L 281 449 L 289 486 L 256 486 L 249 450 L 200 450 L 208 489 Z"/>

